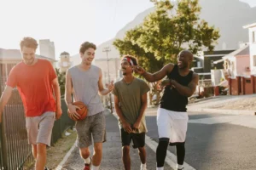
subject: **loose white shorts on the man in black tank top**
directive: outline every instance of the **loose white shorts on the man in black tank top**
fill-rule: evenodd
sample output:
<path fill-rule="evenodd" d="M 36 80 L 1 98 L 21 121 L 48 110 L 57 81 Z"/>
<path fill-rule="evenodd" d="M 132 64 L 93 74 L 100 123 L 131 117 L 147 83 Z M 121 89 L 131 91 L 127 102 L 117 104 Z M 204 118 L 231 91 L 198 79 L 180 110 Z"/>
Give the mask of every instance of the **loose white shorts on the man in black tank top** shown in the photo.
<path fill-rule="evenodd" d="M 185 142 L 189 116 L 187 112 L 157 110 L 159 138 L 168 138 L 170 143 Z"/>

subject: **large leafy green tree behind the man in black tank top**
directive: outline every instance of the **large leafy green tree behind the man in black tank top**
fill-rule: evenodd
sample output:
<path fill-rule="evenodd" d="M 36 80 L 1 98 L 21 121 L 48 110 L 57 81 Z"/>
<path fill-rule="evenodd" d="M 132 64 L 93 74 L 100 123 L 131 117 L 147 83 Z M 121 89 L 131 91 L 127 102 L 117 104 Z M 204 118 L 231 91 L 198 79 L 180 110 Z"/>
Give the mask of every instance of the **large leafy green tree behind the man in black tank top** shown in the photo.
<path fill-rule="evenodd" d="M 113 42 L 121 55 L 136 56 L 143 68 L 154 72 L 167 63 L 177 63 L 177 54 L 183 49 L 193 54 L 214 49 L 219 31 L 200 19 L 198 0 L 150 1 L 154 3 L 154 12 L 141 25 L 127 31 L 124 39 Z"/>

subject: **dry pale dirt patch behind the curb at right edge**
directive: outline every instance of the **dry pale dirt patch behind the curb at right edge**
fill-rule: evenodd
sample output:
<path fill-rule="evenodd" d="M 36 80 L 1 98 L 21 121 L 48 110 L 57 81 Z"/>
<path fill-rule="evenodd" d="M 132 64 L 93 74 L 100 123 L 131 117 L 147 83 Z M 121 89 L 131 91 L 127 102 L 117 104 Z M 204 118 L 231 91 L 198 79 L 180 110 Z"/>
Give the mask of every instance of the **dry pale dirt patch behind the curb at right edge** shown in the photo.
<path fill-rule="evenodd" d="M 211 106 L 212 109 L 256 111 L 256 97 L 227 101 L 221 105 Z"/>

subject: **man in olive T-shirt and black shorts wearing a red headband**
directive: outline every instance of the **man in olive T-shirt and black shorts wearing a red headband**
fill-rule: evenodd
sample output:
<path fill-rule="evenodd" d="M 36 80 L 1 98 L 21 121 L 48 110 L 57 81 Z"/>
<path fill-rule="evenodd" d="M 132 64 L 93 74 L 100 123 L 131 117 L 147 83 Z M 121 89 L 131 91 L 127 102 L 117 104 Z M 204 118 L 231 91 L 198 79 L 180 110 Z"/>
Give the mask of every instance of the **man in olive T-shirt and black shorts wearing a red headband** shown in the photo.
<path fill-rule="evenodd" d="M 140 170 L 147 170 L 145 150 L 147 127 L 144 111 L 147 108 L 149 88 L 146 82 L 133 76 L 133 67 L 135 65 L 137 65 L 136 58 L 130 55 L 123 57 L 121 67 L 124 78 L 114 83 L 114 107 L 119 116 L 125 170 L 131 170 L 131 140 L 133 148 L 137 148 L 139 151 L 141 159 Z"/>

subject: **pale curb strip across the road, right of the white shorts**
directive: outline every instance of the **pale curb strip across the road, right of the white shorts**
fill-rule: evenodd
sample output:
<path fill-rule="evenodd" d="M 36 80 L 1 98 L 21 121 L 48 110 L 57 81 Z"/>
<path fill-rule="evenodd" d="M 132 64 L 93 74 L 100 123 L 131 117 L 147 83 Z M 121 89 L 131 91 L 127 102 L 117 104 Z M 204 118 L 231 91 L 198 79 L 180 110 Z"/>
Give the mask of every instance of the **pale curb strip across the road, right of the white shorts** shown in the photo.
<path fill-rule="evenodd" d="M 200 111 L 200 112 L 210 112 L 224 115 L 249 115 L 256 116 L 256 111 L 246 111 L 246 110 L 224 110 L 224 109 L 208 109 L 208 108 L 200 108 L 200 109 L 189 109 L 188 111 Z"/>

